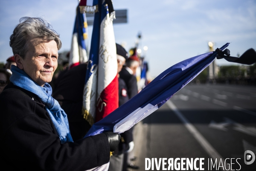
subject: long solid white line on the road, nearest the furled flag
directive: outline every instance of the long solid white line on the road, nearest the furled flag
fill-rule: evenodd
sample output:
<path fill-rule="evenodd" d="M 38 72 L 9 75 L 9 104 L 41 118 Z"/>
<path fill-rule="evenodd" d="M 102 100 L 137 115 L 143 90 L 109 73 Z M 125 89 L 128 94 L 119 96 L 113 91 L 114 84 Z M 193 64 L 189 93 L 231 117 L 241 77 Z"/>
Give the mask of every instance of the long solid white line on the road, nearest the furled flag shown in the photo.
<path fill-rule="evenodd" d="M 195 128 L 195 126 L 192 125 L 189 122 L 189 120 L 186 119 L 185 116 L 183 116 L 183 114 L 180 112 L 180 110 L 178 110 L 175 104 L 172 103 L 172 101 L 168 100 L 166 101 L 166 104 L 170 107 L 171 110 L 174 111 L 176 116 L 183 122 L 184 126 L 189 130 L 192 136 L 194 136 L 194 138 L 198 141 L 198 143 L 202 146 L 202 148 L 204 148 L 204 150 L 213 159 L 213 161 L 215 161 L 216 159 L 218 161 L 220 159 L 224 161 L 224 158 L 221 157 L 218 151 L 216 151 L 215 148 L 213 148 L 212 145 L 207 141 L 207 139 L 205 139 L 204 136 Z M 228 168 L 227 163 L 226 163 L 226 168 Z"/>

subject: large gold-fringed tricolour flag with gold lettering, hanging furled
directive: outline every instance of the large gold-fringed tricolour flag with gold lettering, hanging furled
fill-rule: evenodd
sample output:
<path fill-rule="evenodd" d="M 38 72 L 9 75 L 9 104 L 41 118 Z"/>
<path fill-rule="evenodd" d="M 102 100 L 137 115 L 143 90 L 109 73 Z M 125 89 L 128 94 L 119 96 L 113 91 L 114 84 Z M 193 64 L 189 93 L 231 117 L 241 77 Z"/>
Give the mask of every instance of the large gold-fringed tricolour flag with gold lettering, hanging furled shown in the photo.
<path fill-rule="evenodd" d="M 111 0 L 81 0 L 80 12 L 95 13 L 84 85 L 83 115 L 90 125 L 118 107 L 115 12 Z"/>

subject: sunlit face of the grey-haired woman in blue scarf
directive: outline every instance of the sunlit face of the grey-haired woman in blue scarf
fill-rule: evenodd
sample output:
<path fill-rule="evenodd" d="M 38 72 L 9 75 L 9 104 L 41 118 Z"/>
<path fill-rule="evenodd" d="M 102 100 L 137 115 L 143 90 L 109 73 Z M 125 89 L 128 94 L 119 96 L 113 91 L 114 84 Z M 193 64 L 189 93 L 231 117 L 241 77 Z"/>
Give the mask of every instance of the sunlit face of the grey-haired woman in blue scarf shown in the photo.
<path fill-rule="evenodd" d="M 39 38 L 29 41 L 28 51 L 25 58 L 21 59 L 21 64 L 32 80 L 44 86 L 45 83 L 52 81 L 53 73 L 58 66 L 57 43 L 55 41 L 42 42 Z"/>

